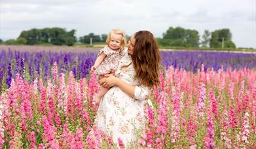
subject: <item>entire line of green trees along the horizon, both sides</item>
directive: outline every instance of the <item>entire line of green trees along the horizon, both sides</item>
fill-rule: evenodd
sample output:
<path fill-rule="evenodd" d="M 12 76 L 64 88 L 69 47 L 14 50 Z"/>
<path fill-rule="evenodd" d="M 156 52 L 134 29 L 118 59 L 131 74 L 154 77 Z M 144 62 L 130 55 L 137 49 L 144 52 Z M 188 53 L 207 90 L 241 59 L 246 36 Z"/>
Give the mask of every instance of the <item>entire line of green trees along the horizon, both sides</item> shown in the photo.
<path fill-rule="evenodd" d="M 77 42 L 90 44 L 90 39 L 93 42 L 105 42 L 107 39 L 107 34 L 94 35 L 94 33 L 89 33 L 77 39 L 75 32 L 75 29 L 66 31 L 65 28 L 60 27 L 29 29 L 22 31 L 17 39 L 9 39 L 5 42 L 0 39 L 0 44 L 54 44 L 73 46 Z M 217 29 L 212 32 L 205 30 L 200 39 L 198 31 L 195 29 L 169 27 L 163 33 L 162 38 L 156 38 L 156 40 L 160 46 L 236 48 L 236 44 L 232 42 L 232 34 L 229 29 Z"/>

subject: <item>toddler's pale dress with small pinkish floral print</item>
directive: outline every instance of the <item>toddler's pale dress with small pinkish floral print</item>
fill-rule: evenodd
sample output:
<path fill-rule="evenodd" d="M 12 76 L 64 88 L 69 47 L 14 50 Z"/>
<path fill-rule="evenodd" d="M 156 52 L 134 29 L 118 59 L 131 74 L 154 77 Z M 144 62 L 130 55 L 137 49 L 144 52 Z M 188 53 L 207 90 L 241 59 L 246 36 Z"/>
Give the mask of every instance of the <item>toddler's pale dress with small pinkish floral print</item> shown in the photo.
<path fill-rule="evenodd" d="M 108 46 L 102 48 L 98 54 L 104 53 L 106 57 L 101 61 L 100 66 L 94 71 L 97 75 L 108 74 L 111 71 L 116 71 L 119 65 L 120 50 L 112 50 Z"/>

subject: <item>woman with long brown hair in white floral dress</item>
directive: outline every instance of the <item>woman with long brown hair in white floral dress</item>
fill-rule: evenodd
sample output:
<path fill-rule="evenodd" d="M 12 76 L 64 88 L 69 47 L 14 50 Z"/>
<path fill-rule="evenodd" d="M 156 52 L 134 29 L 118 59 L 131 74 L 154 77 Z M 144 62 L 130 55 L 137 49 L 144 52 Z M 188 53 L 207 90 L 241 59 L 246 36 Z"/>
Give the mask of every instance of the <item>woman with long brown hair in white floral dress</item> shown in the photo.
<path fill-rule="evenodd" d="M 124 144 L 136 141 L 136 131 L 143 129 L 144 100 L 153 86 L 159 84 L 160 52 L 149 31 L 138 31 L 128 42 L 128 50 L 120 59 L 119 69 L 106 74 L 100 84 L 110 90 L 98 108 L 96 124 Z M 112 87 L 112 88 L 111 88 Z"/>

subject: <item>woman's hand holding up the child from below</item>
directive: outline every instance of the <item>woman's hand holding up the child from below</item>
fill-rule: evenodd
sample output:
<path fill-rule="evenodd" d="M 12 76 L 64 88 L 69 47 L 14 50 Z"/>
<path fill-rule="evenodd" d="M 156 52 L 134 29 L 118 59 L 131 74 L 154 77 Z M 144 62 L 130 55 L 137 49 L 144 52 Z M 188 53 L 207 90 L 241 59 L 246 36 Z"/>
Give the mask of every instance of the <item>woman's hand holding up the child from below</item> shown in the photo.
<path fill-rule="evenodd" d="M 119 80 L 119 78 L 115 77 L 113 74 L 105 74 L 104 78 L 101 78 L 99 80 L 99 83 L 104 88 L 111 88 L 112 86 L 117 85 L 118 80 Z"/>

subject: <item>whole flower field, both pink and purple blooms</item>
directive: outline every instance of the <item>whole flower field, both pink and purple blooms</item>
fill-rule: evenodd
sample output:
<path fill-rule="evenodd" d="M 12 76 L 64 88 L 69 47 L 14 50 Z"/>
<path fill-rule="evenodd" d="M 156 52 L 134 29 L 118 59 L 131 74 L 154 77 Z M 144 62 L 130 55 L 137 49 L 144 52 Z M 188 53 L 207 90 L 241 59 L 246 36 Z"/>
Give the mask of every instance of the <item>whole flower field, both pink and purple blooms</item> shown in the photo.
<path fill-rule="evenodd" d="M 94 125 L 96 52 L 0 49 L 0 58 L 1 148 L 123 148 Z M 256 147 L 255 54 L 162 52 L 162 65 L 129 148 Z"/>

